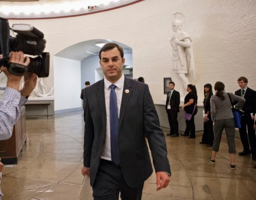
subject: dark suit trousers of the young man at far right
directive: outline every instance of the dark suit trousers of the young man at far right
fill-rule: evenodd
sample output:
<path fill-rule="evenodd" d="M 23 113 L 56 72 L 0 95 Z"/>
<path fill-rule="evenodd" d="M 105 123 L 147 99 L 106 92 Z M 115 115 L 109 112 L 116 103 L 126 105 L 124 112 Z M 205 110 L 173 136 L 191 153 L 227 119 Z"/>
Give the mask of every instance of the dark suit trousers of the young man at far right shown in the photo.
<path fill-rule="evenodd" d="M 253 128 L 254 121 L 251 119 L 250 113 L 244 113 L 241 119 L 241 128 L 239 128 L 241 142 L 245 152 L 250 152 L 253 156 L 256 156 L 256 137 L 255 130 Z M 247 135 L 248 131 L 248 135 Z M 250 144 L 250 146 L 249 146 Z"/>

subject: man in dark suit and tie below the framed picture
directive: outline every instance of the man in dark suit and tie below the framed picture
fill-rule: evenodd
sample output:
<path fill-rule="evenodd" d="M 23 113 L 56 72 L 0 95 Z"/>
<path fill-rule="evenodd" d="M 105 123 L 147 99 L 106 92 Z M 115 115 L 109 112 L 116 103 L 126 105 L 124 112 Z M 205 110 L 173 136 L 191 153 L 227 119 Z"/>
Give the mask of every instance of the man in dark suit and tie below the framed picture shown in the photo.
<path fill-rule="evenodd" d="M 166 112 L 170 125 L 170 133 L 167 135 L 171 135 L 171 137 L 178 137 L 178 112 L 180 112 L 180 92 L 174 90 L 175 83 L 173 81 L 169 82 L 170 91 L 167 92 L 166 98 Z"/>

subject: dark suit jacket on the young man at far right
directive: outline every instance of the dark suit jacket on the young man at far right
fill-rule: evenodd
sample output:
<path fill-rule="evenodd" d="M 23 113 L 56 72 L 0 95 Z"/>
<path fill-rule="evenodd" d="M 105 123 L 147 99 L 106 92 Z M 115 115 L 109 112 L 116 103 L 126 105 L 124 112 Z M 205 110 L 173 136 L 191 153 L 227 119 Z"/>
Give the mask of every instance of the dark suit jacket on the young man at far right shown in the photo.
<path fill-rule="evenodd" d="M 234 94 L 241 97 L 241 89 L 234 92 Z M 242 110 L 246 113 L 256 113 L 256 91 L 247 87 L 244 98 L 246 99 L 246 103 L 244 103 Z M 237 102 L 234 102 L 234 105 L 236 105 L 236 103 Z"/>

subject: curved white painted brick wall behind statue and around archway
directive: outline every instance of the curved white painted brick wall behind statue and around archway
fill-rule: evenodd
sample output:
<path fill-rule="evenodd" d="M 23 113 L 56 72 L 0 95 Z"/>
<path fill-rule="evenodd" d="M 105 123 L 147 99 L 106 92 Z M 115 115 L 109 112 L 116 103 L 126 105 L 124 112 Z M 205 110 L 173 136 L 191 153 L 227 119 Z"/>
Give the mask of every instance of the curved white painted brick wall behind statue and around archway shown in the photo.
<path fill-rule="evenodd" d="M 174 11 L 184 13 L 184 30 L 192 38 L 199 99 L 203 99 L 205 83 L 223 81 L 226 91 L 235 91 L 239 88 L 237 78 L 240 76 L 246 76 L 248 86 L 256 90 L 254 0 L 149 0 L 93 15 L 10 20 L 10 24 L 30 23 L 45 34 L 45 51 L 51 54 L 50 76 L 44 81 L 48 88 L 58 84 L 53 81 L 56 74 L 53 68 L 56 66 L 52 67 L 55 65 L 52 55 L 78 42 L 105 38 L 132 48 L 134 77 L 145 78 L 153 100 L 158 102 L 165 99 L 164 77 L 172 77 L 178 83 L 170 65 L 169 38 L 172 34 L 171 13 Z M 54 87 L 55 98 L 60 99 L 58 90 L 61 87 Z"/>

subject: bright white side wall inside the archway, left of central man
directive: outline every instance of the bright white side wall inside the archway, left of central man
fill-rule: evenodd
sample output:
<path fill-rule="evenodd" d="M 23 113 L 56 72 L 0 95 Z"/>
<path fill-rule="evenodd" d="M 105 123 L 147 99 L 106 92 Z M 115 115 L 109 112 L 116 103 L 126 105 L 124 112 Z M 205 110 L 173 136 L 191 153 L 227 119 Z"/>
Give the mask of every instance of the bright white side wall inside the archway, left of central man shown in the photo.
<path fill-rule="evenodd" d="M 80 108 L 80 62 L 55 56 L 54 73 L 54 110 Z"/>

